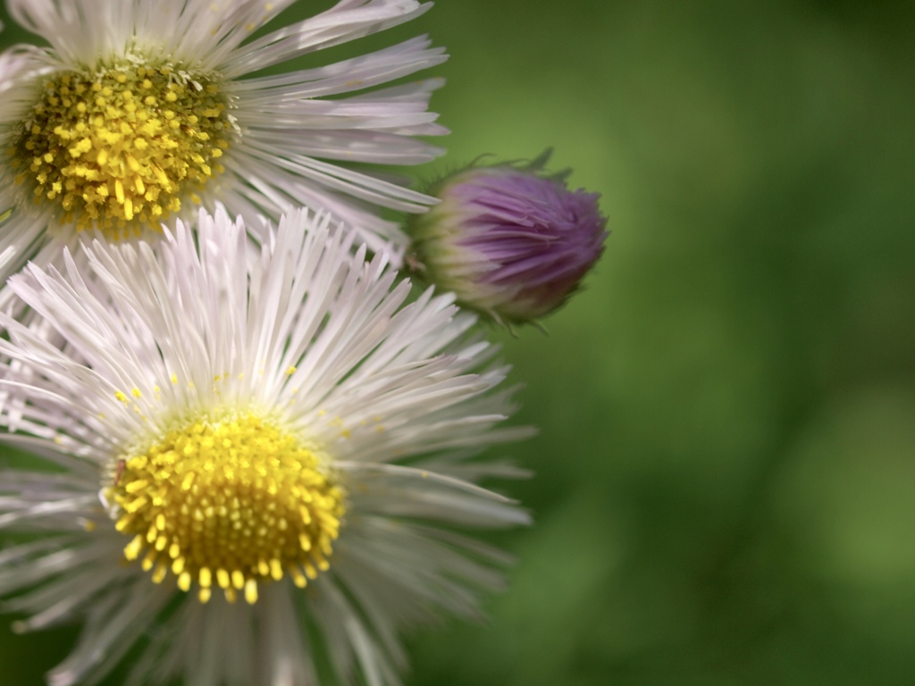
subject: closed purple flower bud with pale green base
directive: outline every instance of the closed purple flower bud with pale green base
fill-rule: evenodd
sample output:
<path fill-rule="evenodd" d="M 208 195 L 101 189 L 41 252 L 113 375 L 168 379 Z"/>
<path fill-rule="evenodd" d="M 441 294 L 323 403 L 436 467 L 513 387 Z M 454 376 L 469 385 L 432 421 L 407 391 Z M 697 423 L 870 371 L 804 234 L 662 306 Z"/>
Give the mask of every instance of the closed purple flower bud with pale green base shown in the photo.
<path fill-rule="evenodd" d="M 432 189 L 441 200 L 413 220 L 411 263 L 458 303 L 499 322 L 552 312 L 603 252 L 597 193 L 569 190 L 528 166 L 471 166 Z"/>

